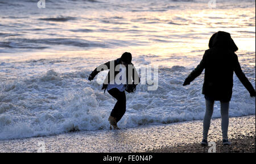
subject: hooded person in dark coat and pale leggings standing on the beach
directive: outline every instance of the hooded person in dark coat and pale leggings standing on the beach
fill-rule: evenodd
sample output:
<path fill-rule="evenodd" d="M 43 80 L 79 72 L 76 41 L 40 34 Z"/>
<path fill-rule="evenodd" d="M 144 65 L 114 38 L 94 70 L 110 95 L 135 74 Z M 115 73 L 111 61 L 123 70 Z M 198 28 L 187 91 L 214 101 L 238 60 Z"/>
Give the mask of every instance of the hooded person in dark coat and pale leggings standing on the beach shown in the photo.
<path fill-rule="evenodd" d="M 237 50 L 238 48 L 229 33 L 222 31 L 214 33 L 210 38 L 209 49 L 205 51 L 202 61 L 184 81 L 183 85 L 190 84 L 205 69 L 203 94 L 205 95 L 206 111 L 203 122 L 202 145 L 208 145 L 207 136 L 214 101 L 220 101 L 221 104 L 222 143 L 230 145 L 228 141 L 228 112 L 229 101 L 232 97 L 233 72 L 249 91 L 250 96 L 255 97 L 255 89 L 243 74 L 238 57 L 234 53 Z"/>

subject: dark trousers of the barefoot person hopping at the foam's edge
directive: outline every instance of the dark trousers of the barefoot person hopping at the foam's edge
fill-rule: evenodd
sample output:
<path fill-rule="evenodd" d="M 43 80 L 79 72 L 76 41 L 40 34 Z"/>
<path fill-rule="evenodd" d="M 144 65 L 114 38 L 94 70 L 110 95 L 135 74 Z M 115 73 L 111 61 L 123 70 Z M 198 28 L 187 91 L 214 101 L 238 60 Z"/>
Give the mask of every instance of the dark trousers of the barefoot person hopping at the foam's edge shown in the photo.
<path fill-rule="evenodd" d="M 109 94 L 113 96 L 117 103 L 115 103 L 114 109 L 111 112 L 111 116 L 117 119 L 117 122 L 122 118 L 126 111 L 126 96 L 125 91 L 120 92 L 117 88 L 108 90 Z"/>

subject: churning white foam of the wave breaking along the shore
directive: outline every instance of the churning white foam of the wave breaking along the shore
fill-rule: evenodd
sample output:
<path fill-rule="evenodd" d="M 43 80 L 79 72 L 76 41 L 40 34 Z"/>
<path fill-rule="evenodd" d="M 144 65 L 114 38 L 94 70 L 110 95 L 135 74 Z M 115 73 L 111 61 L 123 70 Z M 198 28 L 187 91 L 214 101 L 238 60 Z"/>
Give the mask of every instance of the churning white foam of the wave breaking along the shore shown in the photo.
<path fill-rule="evenodd" d="M 145 57 L 146 58 L 146 57 Z M 144 61 L 138 58 L 138 62 Z M 183 66 L 160 67 L 159 87 L 148 91 L 138 85 L 126 94 L 127 110 L 119 127 L 165 124 L 203 119 L 203 75 L 183 87 L 191 69 Z M 115 100 L 101 90 L 96 80 L 88 81 L 89 72 L 44 74 L 6 81 L 0 94 L 0 139 L 52 135 L 69 131 L 108 129 L 108 116 Z M 251 77 L 255 72 L 250 71 Z M 252 81 L 255 86 L 255 81 Z M 255 98 L 234 76 L 234 94 L 230 116 L 255 114 Z M 220 117 L 220 105 L 214 106 L 214 118 Z"/>

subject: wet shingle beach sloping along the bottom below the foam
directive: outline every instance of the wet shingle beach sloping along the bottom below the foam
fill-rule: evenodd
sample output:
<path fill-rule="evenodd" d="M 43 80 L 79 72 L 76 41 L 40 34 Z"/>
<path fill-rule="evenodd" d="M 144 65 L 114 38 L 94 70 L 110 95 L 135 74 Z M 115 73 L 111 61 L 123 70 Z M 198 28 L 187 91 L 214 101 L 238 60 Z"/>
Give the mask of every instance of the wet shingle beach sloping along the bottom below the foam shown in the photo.
<path fill-rule="evenodd" d="M 43 142 L 46 152 L 208 152 L 199 143 L 203 120 L 141 126 L 122 130 L 70 132 L 54 136 L 1 140 L 0 152 L 38 152 Z M 231 146 L 221 145 L 221 119 L 212 119 L 209 142 L 216 152 L 255 152 L 255 115 L 229 119 Z"/>

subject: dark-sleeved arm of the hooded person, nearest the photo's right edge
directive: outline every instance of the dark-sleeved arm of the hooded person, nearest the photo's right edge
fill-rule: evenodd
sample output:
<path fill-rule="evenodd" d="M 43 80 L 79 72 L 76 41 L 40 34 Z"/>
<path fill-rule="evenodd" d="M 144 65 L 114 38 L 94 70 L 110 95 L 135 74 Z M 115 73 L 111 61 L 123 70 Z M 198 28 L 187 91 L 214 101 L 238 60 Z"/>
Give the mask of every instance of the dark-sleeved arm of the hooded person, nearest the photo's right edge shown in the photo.
<path fill-rule="evenodd" d="M 235 54 L 235 61 L 234 61 L 234 72 L 236 73 L 238 79 L 241 81 L 243 86 L 245 86 L 245 88 L 249 91 L 250 96 L 255 97 L 255 89 L 253 88 L 253 85 L 251 85 L 250 81 L 247 79 L 247 77 L 243 73 L 236 54 Z"/>

